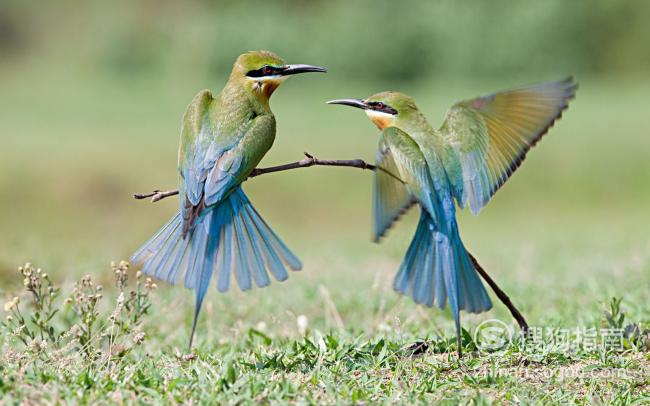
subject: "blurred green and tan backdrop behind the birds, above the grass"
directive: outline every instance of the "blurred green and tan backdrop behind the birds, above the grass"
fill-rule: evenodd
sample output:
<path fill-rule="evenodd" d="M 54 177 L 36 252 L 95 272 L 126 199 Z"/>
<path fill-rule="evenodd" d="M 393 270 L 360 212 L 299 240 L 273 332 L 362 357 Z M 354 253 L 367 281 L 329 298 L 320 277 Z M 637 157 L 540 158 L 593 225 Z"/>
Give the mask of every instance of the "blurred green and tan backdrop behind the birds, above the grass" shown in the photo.
<path fill-rule="evenodd" d="M 328 99 L 401 90 L 438 125 L 455 101 L 575 75 L 564 118 L 481 216 L 460 215 L 464 240 L 517 296 L 548 299 L 545 288 L 559 284 L 647 297 L 648 16 L 642 0 L 3 0 L 2 286 L 20 282 L 8 275 L 25 261 L 59 280 L 109 279 L 109 261 L 128 258 L 176 210 L 175 199 L 131 195 L 175 187 L 189 101 L 218 91 L 243 51 L 270 49 L 330 72 L 274 95 L 278 137 L 263 166 L 303 151 L 373 159 L 376 129 Z M 335 296 L 378 278 L 390 285 L 416 213 L 372 244 L 370 173 L 310 168 L 245 189 L 305 263 L 273 295 L 301 284 L 327 283 Z"/>

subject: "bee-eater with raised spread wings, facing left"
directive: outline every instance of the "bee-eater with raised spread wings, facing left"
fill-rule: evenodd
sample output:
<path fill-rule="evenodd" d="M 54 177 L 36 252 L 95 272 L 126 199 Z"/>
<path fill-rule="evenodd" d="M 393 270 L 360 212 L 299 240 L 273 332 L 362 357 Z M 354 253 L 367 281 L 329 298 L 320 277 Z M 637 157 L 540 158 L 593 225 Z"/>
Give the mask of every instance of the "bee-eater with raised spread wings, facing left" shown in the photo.
<path fill-rule="evenodd" d="M 421 209 L 394 288 L 416 303 L 449 307 L 461 354 L 460 310 L 480 313 L 490 298 L 460 239 L 454 199 L 478 214 L 557 120 L 576 84 L 572 78 L 494 93 L 455 104 L 439 129 L 413 99 L 382 92 L 331 100 L 360 108 L 382 131 L 374 178 L 374 239 L 413 204 Z"/>

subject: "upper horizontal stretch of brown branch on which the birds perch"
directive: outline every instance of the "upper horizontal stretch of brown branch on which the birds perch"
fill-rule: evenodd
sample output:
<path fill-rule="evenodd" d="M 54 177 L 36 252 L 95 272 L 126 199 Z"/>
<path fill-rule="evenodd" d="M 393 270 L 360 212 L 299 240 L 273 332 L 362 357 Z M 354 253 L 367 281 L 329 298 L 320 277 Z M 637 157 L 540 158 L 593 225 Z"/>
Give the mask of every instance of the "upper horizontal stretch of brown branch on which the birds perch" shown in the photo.
<path fill-rule="evenodd" d="M 256 176 L 264 175 L 265 173 L 288 171 L 291 169 L 298 169 L 298 168 L 309 168 L 310 166 L 347 166 L 347 167 L 359 168 L 359 169 L 369 169 L 371 171 L 377 169 L 375 165 L 371 165 L 362 159 L 318 159 L 305 152 L 305 158 L 301 159 L 300 161 L 291 162 L 284 165 L 271 166 L 268 168 L 255 168 L 253 169 L 251 174 L 248 175 L 248 178 L 249 179 L 254 178 Z M 401 179 L 399 179 L 392 173 L 387 172 L 382 168 L 379 169 L 393 176 L 395 179 L 401 181 Z M 152 202 L 157 202 L 166 197 L 175 196 L 177 194 L 178 194 L 178 189 L 167 190 L 167 191 L 154 190 L 153 192 L 150 193 L 136 193 L 133 195 L 133 198 L 141 200 L 150 197 Z"/>

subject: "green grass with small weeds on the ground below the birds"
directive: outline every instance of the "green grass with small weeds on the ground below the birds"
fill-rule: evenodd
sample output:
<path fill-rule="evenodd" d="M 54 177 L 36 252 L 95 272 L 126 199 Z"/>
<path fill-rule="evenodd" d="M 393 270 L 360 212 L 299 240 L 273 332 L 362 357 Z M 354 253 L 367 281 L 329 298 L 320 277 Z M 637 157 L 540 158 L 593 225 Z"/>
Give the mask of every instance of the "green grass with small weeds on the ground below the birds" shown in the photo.
<path fill-rule="evenodd" d="M 321 288 L 312 297 L 323 307 L 320 314 L 282 314 L 276 303 L 208 303 L 204 319 L 216 325 L 209 332 L 203 328 L 196 350 L 187 352 L 187 331 L 178 328 L 187 320 L 171 311 L 177 294 L 159 295 L 139 273 L 129 291 L 127 264 L 112 270 L 117 298 L 104 298 L 103 289 L 84 277 L 61 301 L 49 276 L 29 264 L 21 268 L 27 295 L 5 306 L 13 316 L 3 323 L 0 394 L 5 402 L 650 400 L 650 330 L 647 322 L 628 320 L 620 299 L 612 299 L 582 326 L 636 331 L 622 335 L 620 346 L 598 341 L 592 348 L 571 333 L 567 342 L 577 343 L 572 348 L 545 334 L 519 336 L 498 351 L 485 351 L 475 335 L 464 331 L 466 355 L 459 360 L 453 334 L 433 328 L 423 335 L 420 326 L 427 315 L 410 303 L 390 298 L 380 309 L 367 303 L 357 311 L 372 321 L 363 328 L 344 326 L 347 313 L 339 312 L 358 303 L 335 305 Z M 378 297 L 370 295 L 368 302 Z M 269 315 L 262 316 L 260 306 Z M 472 330 L 474 320 L 469 324 Z"/>

